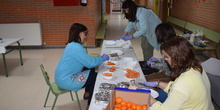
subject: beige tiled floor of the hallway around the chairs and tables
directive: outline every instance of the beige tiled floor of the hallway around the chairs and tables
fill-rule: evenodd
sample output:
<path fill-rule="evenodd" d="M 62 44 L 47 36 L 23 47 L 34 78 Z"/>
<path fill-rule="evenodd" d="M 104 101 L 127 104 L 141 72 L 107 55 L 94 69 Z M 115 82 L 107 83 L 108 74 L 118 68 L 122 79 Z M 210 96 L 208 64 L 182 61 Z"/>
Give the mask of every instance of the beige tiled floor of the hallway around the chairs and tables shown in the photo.
<path fill-rule="evenodd" d="M 108 15 L 108 30 L 106 39 L 120 39 L 127 20 L 121 14 Z M 133 39 L 132 45 L 138 60 L 143 60 L 140 40 Z M 88 48 L 89 53 L 100 53 L 101 48 Z M 9 77 L 5 77 L 3 72 L 3 62 L 0 58 L 0 110 L 50 110 L 54 101 L 54 96 L 50 94 L 47 107 L 43 107 L 47 95 L 48 86 L 42 76 L 39 65 L 44 67 L 53 82 L 53 73 L 56 64 L 63 52 L 59 49 L 24 49 L 23 61 L 19 62 L 18 51 L 12 51 L 6 55 Z M 161 57 L 158 51 L 154 52 L 155 57 Z M 84 90 L 79 91 L 79 97 L 83 110 L 87 101 L 82 99 Z M 74 96 L 75 98 L 75 96 Z M 60 95 L 54 110 L 77 110 L 77 102 L 71 101 L 70 95 Z"/>

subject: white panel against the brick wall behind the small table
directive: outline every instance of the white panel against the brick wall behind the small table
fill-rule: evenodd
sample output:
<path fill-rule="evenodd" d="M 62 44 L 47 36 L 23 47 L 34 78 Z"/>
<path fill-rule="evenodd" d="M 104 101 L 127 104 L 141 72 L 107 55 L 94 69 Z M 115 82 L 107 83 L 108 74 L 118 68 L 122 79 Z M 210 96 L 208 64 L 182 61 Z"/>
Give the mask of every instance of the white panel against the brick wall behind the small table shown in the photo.
<path fill-rule="evenodd" d="M 0 38 L 24 38 L 21 46 L 41 46 L 40 23 L 3 23 L 0 24 Z"/>

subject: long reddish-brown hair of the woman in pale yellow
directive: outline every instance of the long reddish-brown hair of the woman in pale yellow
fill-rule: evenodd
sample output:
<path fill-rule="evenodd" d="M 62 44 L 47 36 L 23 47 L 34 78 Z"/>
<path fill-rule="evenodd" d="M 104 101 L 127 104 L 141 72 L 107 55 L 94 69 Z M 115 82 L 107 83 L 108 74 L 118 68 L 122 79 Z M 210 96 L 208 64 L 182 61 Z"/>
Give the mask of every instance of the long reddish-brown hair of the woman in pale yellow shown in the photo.
<path fill-rule="evenodd" d="M 177 78 L 183 72 L 190 68 L 199 71 L 202 74 L 202 66 L 196 59 L 193 46 L 183 37 L 174 37 L 164 42 L 160 51 L 165 51 L 171 57 L 172 77 Z"/>

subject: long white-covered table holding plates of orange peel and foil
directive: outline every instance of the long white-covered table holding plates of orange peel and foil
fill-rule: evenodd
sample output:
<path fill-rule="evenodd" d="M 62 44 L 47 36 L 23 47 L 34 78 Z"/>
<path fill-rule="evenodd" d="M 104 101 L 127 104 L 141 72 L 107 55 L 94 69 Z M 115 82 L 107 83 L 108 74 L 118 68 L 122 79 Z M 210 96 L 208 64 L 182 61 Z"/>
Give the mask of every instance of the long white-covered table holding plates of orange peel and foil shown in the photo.
<path fill-rule="evenodd" d="M 131 45 L 130 48 L 123 48 L 123 47 L 108 47 L 106 45 L 106 42 L 109 40 L 104 40 L 103 44 L 102 44 L 102 50 L 101 50 L 101 54 L 110 54 L 113 50 L 121 50 L 123 51 L 123 55 L 119 56 L 118 61 L 118 66 L 116 71 L 114 72 L 114 77 L 111 80 L 106 80 L 103 78 L 102 73 L 105 71 L 108 71 L 108 67 L 105 65 L 105 63 L 102 63 L 99 68 L 98 68 L 98 75 L 97 75 L 97 79 L 96 79 L 96 83 L 95 83 L 95 88 L 94 88 L 94 92 L 93 92 L 93 96 L 92 96 L 92 100 L 91 100 L 91 104 L 89 107 L 89 110 L 102 110 L 103 108 L 105 108 L 107 106 L 106 103 L 103 104 L 97 104 L 96 100 L 95 100 L 95 94 L 99 91 L 99 86 L 101 83 L 111 83 L 111 84 L 117 84 L 119 82 L 129 82 L 128 79 L 125 78 L 123 73 L 123 67 L 126 66 L 124 61 L 123 61 L 123 57 L 132 57 L 134 59 L 134 61 L 137 61 L 137 57 L 136 54 L 132 48 L 131 42 L 130 41 L 126 41 L 125 43 Z M 146 81 L 144 74 L 141 70 L 141 67 L 139 65 L 139 63 L 137 63 L 137 65 L 134 67 L 134 70 L 140 73 L 140 77 L 137 78 L 135 81 L 136 82 L 143 82 Z"/>

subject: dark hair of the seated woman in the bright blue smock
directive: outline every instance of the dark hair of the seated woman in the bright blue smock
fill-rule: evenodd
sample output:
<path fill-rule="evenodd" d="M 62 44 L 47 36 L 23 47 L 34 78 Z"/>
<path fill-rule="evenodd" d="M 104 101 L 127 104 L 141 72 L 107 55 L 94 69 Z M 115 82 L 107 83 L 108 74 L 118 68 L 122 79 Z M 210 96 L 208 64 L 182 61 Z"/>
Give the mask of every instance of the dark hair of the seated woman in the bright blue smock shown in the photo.
<path fill-rule="evenodd" d="M 78 42 L 81 43 L 81 38 L 79 36 L 80 32 L 87 31 L 87 27 L 80 23 L 74 23 L 69 31 L 68 43 Z"/>

